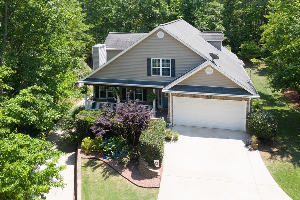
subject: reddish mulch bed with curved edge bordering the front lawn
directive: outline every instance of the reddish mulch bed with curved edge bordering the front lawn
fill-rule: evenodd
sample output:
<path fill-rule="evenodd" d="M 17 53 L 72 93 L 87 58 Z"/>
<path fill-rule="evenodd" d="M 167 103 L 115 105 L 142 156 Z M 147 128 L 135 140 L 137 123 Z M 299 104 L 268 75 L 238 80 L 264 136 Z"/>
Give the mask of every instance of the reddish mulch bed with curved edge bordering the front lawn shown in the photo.
<path fill-rule="evenodd" d="M 161 176 L 158 178 L 145 178 L 143 175 L 140 174 L 138 171 L 139 163 L 137 160 L 130 161 L 128 166 L 124 166 L 122 164 L 118 164 L 118 161 L 116 160 L 105 160 L 103 158 L 103 155 L 98 152 L 91 152 L 88 155 L 83 154 L 82 151 L 80 151 L 81 158 L 92 158 L 92 159 L 98 159 L 105 163 L 107 163 L 109 166 L 111 166 L 113 169 L 116 170 L 121 176 L 126 178 L 131 183 L 140 186 L 140 187 L 146 187 L 146 188 L 155 188 L 159 187 L 161 182 Z M 162 171 L 162 167 L 159 169 L 160 173 Z"/>

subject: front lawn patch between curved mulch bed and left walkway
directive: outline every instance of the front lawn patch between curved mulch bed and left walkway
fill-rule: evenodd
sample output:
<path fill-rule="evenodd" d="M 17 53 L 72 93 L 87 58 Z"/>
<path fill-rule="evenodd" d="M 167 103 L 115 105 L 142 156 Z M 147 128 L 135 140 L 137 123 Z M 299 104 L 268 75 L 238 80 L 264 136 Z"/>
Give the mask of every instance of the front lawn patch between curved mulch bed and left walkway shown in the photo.
<path fill-rule="evenodd" d="M 81 159 L 82 200 L 157 199 L 157 196 L 158 188 L 138 187 L 100 160 Z"/>

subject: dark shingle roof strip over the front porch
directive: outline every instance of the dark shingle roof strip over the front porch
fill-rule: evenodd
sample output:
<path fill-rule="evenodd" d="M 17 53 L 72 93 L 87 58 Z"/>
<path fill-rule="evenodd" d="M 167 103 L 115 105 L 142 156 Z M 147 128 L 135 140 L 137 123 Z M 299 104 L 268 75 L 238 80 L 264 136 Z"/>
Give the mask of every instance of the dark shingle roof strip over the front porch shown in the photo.
<path fill-rule="evenodd" d="M 86 78 L 83 82 L 96 82 L 99 84 L 110 83 L 110 84 L 134 84 L 134 85 L 155 85 L 163 88 L 168 82 L 163 81 L 136 81 L 136 80 L 123 80 L 123 79 L 98 79 L 98 78 Z"/>

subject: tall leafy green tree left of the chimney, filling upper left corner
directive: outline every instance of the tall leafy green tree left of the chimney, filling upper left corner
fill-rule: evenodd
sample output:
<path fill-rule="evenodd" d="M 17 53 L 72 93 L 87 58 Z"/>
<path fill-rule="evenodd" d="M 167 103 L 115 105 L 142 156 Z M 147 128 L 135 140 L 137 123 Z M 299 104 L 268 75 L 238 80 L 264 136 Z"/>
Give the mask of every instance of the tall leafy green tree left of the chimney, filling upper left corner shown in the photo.
<path fill-rule="evenodd" d="M 0 116 L 12 118 L 0 125 L 45 134 L 79 94 L 89 26 L 77 0 L 4 0 L 0 9 Z"/>

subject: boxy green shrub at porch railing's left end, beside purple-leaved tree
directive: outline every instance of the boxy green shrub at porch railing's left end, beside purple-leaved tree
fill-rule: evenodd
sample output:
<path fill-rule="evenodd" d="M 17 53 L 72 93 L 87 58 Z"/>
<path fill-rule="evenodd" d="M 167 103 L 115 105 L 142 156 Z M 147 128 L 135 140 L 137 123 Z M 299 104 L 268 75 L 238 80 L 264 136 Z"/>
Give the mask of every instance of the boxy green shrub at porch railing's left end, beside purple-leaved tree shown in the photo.
<path fill-rule="evenodd" d="M 90 127 L 95 125 L 96 119 L 101 116 L 100 110 L 82 110 L 77 115 L 75 115 L 77 136 L 79 138 L 85 137 L 95 137 L 95 134 L 92 133 Z"/>

